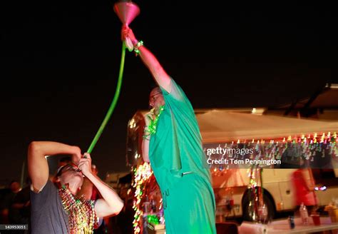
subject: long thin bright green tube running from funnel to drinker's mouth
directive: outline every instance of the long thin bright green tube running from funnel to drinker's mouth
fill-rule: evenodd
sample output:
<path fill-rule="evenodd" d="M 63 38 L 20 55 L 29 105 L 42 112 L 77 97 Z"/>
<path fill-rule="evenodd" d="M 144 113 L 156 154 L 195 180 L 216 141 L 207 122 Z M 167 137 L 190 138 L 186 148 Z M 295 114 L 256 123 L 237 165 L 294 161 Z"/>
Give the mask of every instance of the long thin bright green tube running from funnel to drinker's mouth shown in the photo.
<path fill-rule="evenodd" d="M 93 138 L 93 141 L 91 142 L 91 146 L 89 146 L 89 148 L 87 150 L 88 153 L 91 153 L 91 151 L 93 151 L 93 148 L 95 147 L 96 143 L 98 142 L 98 138 L 100 138 L 104 128 L 106 127 L 106 125 L 109 121 L 109 118 L 111 118 L 111 114 L 113 113 L 114 108 L 116 106 L 116 103 L 118 101 L 118 96 L 120 96 L 125 57 L 126 57 L 126 45 L 123 41 L 122 42 L 122 55 L 121 55 L 120 72 L 118 73 L 118 85 L 116 86 L 115 96 L 113 98 L 113 101 L 111 102 L 111 106 L 109 107 L 108 112 L 106 113 L 106 117 L 103 119 L 100 128 L 98 128 L 98 132 L 96 133 L 95 137 Z"/>

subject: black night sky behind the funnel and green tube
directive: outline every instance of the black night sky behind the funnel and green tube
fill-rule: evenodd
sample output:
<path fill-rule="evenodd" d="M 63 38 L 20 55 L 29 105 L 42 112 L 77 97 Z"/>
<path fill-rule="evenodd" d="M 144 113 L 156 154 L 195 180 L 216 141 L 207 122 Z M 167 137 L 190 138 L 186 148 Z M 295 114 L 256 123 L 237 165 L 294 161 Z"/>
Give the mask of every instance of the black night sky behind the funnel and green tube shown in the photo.
<path fill-rule="evenodd" d="M 195 108 L 277 106 L 337 82 L 337 14 L 328 4 L 135 2 L 135 35 Z M 19 179 L 30 141 L 88 148 L 118 78 L 113 3 L 0 2 L 2 181 Z M 126 171 L 128 119 L 148 107 L 152 85 L 128 53 L 118 105 L 92 153 L 101 177 Z"/>

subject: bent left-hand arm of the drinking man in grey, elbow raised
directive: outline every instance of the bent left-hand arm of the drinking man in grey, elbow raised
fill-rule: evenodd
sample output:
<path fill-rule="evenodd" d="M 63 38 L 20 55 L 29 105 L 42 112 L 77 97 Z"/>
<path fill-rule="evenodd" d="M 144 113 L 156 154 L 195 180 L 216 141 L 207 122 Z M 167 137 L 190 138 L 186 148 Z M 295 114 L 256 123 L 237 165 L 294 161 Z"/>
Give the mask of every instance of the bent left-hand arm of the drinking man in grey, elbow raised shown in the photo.
<path fill-rule="evenodd" d="M 46 156 L 57 154 L 70 154 L 73 163 L 76 164 L 81 158 L 81 150 L 77 146 L 68 146 L 53 141 L 33 141 L 29 144 L 28 170 L 35 192 L 39 192 L 48 181 L 49 171 Z"/>

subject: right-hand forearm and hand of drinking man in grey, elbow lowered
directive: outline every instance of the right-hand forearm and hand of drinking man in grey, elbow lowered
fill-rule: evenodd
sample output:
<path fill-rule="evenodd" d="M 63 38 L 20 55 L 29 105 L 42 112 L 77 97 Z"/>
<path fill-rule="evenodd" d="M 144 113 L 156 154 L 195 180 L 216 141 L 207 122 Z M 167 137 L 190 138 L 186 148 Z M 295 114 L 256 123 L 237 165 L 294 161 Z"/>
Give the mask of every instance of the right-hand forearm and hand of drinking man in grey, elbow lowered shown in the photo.
<path fill-rule="evenodd" d="M 112 188 L 109 188 L 97 175 L 93 174 L 91 171 L 91 156 L 88 153 L 83 155 L 83 158 L 78 163 L 78 168 L 81 169 L 83 175 L 86 175 L 88 180 L 91 180 L 91 183 L 96 186 L 102 195 L 102 199 L 96 200 L 95 203 L 96 215 L 98 217 L 105 217 L 120 213 L 123 208 L 123 201 Z"/>

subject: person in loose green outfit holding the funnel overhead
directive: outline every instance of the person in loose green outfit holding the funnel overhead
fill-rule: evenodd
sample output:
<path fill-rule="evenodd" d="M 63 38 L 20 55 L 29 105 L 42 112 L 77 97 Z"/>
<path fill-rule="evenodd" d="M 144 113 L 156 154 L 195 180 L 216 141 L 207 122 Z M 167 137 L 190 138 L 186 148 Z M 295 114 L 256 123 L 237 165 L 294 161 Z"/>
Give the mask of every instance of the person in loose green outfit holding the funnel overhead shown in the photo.
<path fill-rule="evenodd" d="M 158 59 L 123 26 L 122 39 L 127 37 L 158 84 L 150 92 L 142 153 L 163 196 L 166 233 L 216 233 L 215 195 L 193 106 Z"/>

